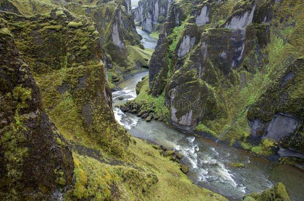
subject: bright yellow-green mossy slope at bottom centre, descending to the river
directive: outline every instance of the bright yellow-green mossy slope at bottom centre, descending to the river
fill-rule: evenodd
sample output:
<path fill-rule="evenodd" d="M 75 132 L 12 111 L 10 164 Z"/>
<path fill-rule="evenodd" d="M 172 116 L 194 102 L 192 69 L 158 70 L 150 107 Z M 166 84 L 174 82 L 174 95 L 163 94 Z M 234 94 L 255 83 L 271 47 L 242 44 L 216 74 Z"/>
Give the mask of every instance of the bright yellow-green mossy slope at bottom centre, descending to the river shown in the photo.
<path fill-rule="evenodd" d="M 179 165 L 147 142 L 132 137 L 134 142 L 121 159 L 126 164 L 109 163 L 73 152 L 75 161 L 76 190 L 67 197 L 74 199 L 93 196 L 113 200 L 159 201 L 225 201 L 226 199 L 206 189 L 200 189 L 179 170 Z M 112 160 L 113 161 L 113 160 Z M 155 176 L 158 182 L 155 183 Z M 113 194 L 111 189 L 116 188 Z"/>

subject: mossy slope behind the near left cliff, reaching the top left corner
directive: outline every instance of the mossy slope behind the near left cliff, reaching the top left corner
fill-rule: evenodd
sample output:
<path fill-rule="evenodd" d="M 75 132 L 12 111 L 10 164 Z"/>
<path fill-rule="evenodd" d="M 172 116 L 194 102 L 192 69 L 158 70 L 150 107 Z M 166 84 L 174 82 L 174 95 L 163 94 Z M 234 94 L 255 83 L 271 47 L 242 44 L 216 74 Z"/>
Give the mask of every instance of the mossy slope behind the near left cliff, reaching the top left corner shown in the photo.
<path fill-rule="evenodd" d="M 109 69 L 109 81 L 112 84 L 132 71 L 148 66 L 150 56 L 140 51 L 144 47 L 141 36 L 136 32 L 130 2 L 3 0 L 0 3 L 1 10 L 24 16 L 47 13 L 56 8 L 92 18 L 104 47 L 103 63 Z M 138 53 L 136 56 L 131 54 L 134 51 Z"/>

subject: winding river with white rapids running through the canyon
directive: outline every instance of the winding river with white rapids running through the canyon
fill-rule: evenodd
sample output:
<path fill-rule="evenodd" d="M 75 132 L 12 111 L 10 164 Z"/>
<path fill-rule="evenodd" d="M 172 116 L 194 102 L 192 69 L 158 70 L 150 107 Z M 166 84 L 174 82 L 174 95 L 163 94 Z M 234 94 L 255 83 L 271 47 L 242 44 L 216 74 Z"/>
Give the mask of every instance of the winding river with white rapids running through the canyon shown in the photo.
<path fill-rule="evenodd" d="M 156 41 L 149 34 L 143 35 L 146 48 L 153 48 Z M 154 44 L 151 44 L 154 43 Z M 136 97 L 135 87 L 148 72 L 129 76 L 113 92 L 113 104 L 120 105 Z M 124 96 L 124 100 L 119 100 Z M 222 194 L 229 200 L 241 200 L 244 195 L 262 192 L 277 182 L 282 182 L 293 201 L 304 199 L 304 171 L 291 165 L 274 165 L 257 158 L 243 150 L 194 134 L 178 132 L 163 122 L 138 118 L 131 113 L 123 113 L 114 107 L 116 120 L 129 132 L 139 138 L 147 139 L 159 145 L 173 148 L 183 154 L 181 163 L 188 165 L 187 176 L 196 185 Z M 244 168 L 232 167 L 231 163 L 243 163 Z"/>

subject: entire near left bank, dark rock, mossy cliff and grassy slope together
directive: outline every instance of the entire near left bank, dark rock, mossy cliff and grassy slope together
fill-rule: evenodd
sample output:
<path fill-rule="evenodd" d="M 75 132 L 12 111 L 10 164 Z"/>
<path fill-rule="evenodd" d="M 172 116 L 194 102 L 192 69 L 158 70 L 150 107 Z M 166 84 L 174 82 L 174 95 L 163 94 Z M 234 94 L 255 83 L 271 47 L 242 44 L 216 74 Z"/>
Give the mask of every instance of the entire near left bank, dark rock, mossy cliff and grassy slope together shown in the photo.
<path fill-rule="evenodd" d="M 0 19 L 1 200 L 226 201 L 115 121 L 91 18 L 54 6 Z"/>

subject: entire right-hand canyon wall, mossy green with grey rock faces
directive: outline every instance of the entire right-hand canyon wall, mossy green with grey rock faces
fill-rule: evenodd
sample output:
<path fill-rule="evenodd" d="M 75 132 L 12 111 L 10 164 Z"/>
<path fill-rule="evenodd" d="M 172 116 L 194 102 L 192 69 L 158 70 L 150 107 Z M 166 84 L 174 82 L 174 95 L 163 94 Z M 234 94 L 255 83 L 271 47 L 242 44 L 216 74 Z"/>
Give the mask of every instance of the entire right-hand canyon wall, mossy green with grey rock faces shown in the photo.
<path fill-rule="evenodd" d="M 301 6 L 174 1 L 149 65 L 146 93 L 168 109 L 156 111 L 180 130 L 273 160 L 304 158 Z"/>

